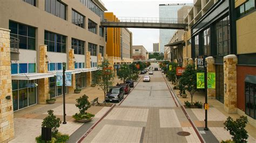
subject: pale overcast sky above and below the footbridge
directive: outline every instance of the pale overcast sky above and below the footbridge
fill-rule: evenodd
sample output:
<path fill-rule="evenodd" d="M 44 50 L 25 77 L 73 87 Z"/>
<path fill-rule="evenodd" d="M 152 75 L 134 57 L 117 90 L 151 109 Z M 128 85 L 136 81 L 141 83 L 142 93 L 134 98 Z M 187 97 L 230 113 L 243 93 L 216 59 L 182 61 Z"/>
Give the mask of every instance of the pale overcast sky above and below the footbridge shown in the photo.
<path fill-rule="evenodd" d="M 193 0 L 101 0 L 106 12 L 117 17 L 159 17 L 159 4 L 193 3 Z M 159 42 L 159 29 L 129 28 L 132 32 L 132 44 L 143 45 L 148 52 L 153 51 L 153 43 Z"/>

